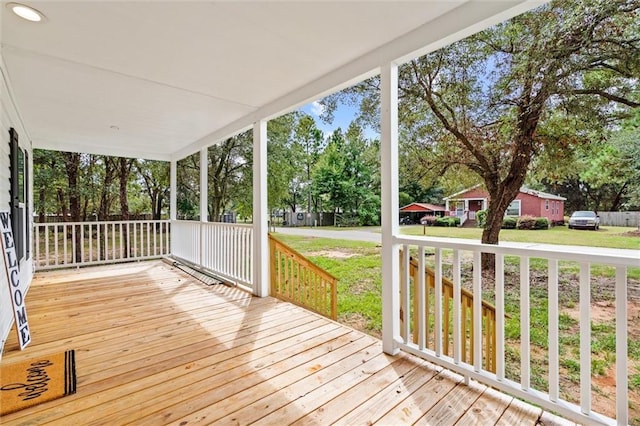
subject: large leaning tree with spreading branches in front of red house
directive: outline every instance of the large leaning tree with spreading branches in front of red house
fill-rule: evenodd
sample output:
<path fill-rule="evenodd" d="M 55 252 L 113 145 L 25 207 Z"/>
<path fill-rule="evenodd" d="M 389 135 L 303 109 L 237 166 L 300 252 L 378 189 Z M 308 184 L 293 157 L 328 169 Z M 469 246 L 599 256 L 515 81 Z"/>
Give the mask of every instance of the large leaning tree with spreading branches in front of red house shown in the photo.
<path fill-rule="evenodd" d="M 482 242 L 498 242 L 532 159 L 571 145 L 571 129 L 547 131 L 553 111 L 607 126 L 640 106 L 639 9 L 637 1 L 555 1 L 401 67 L 402 133 L 425 162 L 441 172 L 464 166 L 490 194 Z M 352 93 L 372 99 L 372 87 Z"/>

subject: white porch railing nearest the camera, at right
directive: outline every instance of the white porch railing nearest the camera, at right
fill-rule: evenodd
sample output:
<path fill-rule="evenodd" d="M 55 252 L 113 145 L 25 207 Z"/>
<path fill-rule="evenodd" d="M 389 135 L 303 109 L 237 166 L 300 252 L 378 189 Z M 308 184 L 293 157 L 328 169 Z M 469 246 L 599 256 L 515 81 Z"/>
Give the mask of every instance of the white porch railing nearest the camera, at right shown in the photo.
<path fill-rule="evenodd" d="M 566 418 L 579 423 L 594 424 L 628 424 L 628 361 L 627 361 L 627 282 L 630 269 L 640 268 L 640 251 L 638 250 L 607 250 L 589 247 L 551 247 L 517 244 L 501 244 L 499 246 L 485 245 L 478 242 L 457 239 L 443 238 L 421 238 L 398 236 L 396 243 L 401 246 L 404 254 L 403 265 L 400 269 L 408 270 L 406 264 L 409 255 L 416 255 L 421 267 L 429 262 L 435 269 L 436 289 L 434 294 L 442 294 L 442 277 L 449 277 L 454 283 L 454 300 L 446 309 L 443 307 L 442 297 L 436 297 L 433 303 L 435 314 L 429 321 L 418 321 L 418 336 L 433 336 L 434 342 L 425 342 L 419 339 L 413 343 L 411 330 L 411 315 L 413 314 L 411 297 L 411 285 L 409 274 L 404 274 L 400 280 L 400 306 L 394 308 L 393 315 L 401 316 L 401 330 L 394 337 L 401 350 L 423 357 L 428 361 L 442 365 L 454 370 L 467 378 L 472 378 L 488 386 L 498 388 L 518 398 L 522 398 L 531 403 L 537 404 L 550 411 L 554 411 Z M 428 249 L 428 253 L 427 253 Z M 495 284 L 485 283 L 483 285 L 483 274 L 481 270 L 481 259 L 485 253 L 495 256 Z M 429 254 L 429 256 L 427 256 Z M 433 256 L 431 256 L 433 254 Z M 543 288 L 531 286 L 531 263 L 535 262 L 536 270 L 540 268 L 546 270 L 548 280 Z M 615 322 L 615 412 L 596 413 L 592 408 L 592 327 L 591 327 L 591 268 L 601 268 L 602 265 L 612 269 L 611 274 L 615 278 L 615 314 L 611 315 L 610 321 Z M 576 330 L 564 330 L 560 326 L 561 306 L 559 297 L 559 275 L 565 268 L 574 268 L 577 271 L 579 280 L 579 302 L 571 307 L 574 312 L 577 309 L 578 324 Z M 505 270 L 507 273 L 505 273 Z M 468 277 L 463 281 L 462 277 Z M 484 276 L 485 280 L 487 276 Z M 462 362 L 462 341 L 461 336 L 461 303 L 460 288 L 469 287 L 474 294 L 475 322 L 482 324 L 480 304 L 484 292 L 484 299 L 496 306 L 496 372 L 492 373 L 485 369 L 483 357 L 482 327 L 475 327 L 472 332 L 474 340 L 474 356 L 471 363 Z M 532 290 L 535 292 L 532 293 Z M 425 280 L 419 280 L 417 295 L 424 295 L 428 291 L 425 288 Z M 562 293 L 560 293 L 561 295 Z M 546 315 L 546 324 L 538 323 L 539 317 L 534 317 L 531 321 L 531 308 L 536 306 L 540 298 L 547 298 L 548 308 L 542 312 Z M 514 300 L 515 298 L 515 300 Z M 510 305 L 506 305 L 508 299 Z M 420 300 L 424 300 L 420 297 Z M 513 307 L 518 306 L 514 312 Z M 510 312 L 505 312 L 505 306 Z M 424 318 L 426 309 L 424 303 L 418 303 L 415 308 L 418 310 L 417 317 Z M 453 336 L 444 336 L 443 322 L 449 321 L 445 318 L 443 311 L 453 310 Z M 513 337 L 513 324 L 511 324 L 510 339 L 505 339 L 505 321 L 511 320 L 505 314 L 510 314 L 511 318 L 519 320 L 519 333 L 516 323 L 515 332 L 519 334 Z M 566 311 L 564 313 L 566 315 Z M 575 315 L 575 313 L 574 313 Z M 564 317 L 566 319 L 566 317 Z M 543 321 L 545 322 L 545 321 Z M 431 325 L 428 325 L 431 324 Z M 535 333 L 544 331 L 547 327 L 544 344 L 537 345 L 531 343 L 531 330 Z M 566 328 L 566 324 L 563 325 Z M 578 329 L 579 327 L 579 329 Z M 429 328 L 429 329 L 427 329 Z M 569 333 L 569 335 L 567 335 Z M 573 334 L 571 334 L 573 333 Z M 539 335 L 538 335 L 539 336 Z M 453 355 L 447 356 L 443 351 L 443 340 L 453 339 Z M 560 346 L 563 339 L 579 339 L 579 346 L 576 344 L 575 353 L 567 354 L 566 345 Z M 432 343 L 432 344 L 428 344 Z M 434 348 L 429 349 L 427 348 Z M 518 355 L 519 352 L 519 355 Z M 509 356 L 505 357 L 505 353 Z M 594 352 L 595 353 L 595 352 Z M 514 358 L 519 356 L 520 362 L 514 362 Z M 579 368 L 579 375 L 573 371 L 574 380 L 577 383 L 567 384 L 566 380 L 561 382 L 561 376 L 567 376 L 568 357 L 572 358 L 571 368 Z M 579 361 L 573 360 L 578 358 Z M 541 365 L 548 366 L 548 372 L 540 377 Z M 536 372 L 536 380 L 532 381 L 532 371 Z M 579 377 L 579 380 L 577 379 Z M 546 382 L 546 383 L 545 383 Z M 568 389 L 572 386 L 574 389 Z M 578 391 L 579 388 L 579 391 Z M 569 392 L 571 391 L 571 392 Z M 575 400 L 569 401 L 565 398 L 567 393 L 579 394 Z"/>

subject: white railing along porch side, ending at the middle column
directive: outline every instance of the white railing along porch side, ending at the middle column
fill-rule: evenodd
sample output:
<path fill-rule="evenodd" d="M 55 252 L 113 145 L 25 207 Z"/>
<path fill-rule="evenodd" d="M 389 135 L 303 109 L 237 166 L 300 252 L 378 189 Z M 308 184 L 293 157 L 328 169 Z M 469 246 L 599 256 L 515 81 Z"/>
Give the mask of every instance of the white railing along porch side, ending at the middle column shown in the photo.
<path fill-rule="evenodd" d="M 252 287 L 253 228 L 219 222 L 173 221 L 171 254 L 220 278 Z"/>

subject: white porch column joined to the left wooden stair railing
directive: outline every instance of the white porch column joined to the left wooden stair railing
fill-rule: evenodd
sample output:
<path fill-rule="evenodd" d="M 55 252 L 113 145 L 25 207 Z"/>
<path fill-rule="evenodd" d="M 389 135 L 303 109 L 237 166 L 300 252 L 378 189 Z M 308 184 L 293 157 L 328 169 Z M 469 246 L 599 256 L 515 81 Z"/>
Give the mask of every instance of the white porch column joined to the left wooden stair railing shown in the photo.
<path fill-rule="evenodd" d="M 253 293 L 269 295 L 267 122 L 253 125 Z"/>

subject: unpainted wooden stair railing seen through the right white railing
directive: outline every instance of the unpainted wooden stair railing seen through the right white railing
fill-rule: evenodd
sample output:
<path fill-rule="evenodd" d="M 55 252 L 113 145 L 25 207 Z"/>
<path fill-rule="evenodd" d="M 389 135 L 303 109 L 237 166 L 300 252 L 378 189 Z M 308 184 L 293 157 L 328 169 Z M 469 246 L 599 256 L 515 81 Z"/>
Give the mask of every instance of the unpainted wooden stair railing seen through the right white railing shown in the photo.
<path fill-rule="evenodd" d="M 400 253 L 402 257 L 402 252 Z M 403 262 L 401 261 L 402 265 Z M 409 276 L 413 281 L 413 303 L 411 308 L 411 331 L 413 343 L 418 343 L 418 297 L 419 294 L 419 266 L 416 259 L 409 260 Z M 425 268 L 425 347 L 435 349 L 435 273 L 433 269 Z M 473 293 L 466 289 L 460 289 L 461 302 L 461 361 L 473 364 L 474 339 L 473 330 L 476 326 L 482 327 L 482 360 L 483 368 L 487 371 L 496 371 L 496 309 L 486 301 L 482 301 L 482 324 L 474 323 Z M 403 297 L 401 297 L 403 300 Z M 404 309 L 404 307 L 403 307 Z M 402 315 L 401 315 L 402 318 Z M 453 356 L 453 282 L 442 278 L 442 349 L 445 355 Z M 404 327 L 401 327 L 404 328 Z"/>

